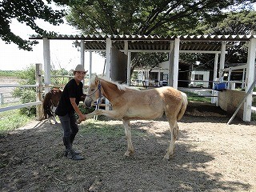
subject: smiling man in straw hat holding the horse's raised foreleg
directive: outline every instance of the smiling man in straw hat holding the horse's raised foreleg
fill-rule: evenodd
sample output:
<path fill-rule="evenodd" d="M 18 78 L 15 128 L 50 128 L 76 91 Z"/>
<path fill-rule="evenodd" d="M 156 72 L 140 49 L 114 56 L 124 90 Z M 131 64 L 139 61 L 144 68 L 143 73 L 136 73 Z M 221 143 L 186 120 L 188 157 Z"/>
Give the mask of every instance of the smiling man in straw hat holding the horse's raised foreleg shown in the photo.
<path fill-rule="evenodd" d="M 86 115 L 78 108 L 78 104 L 83 96 L 83 84 L 82 80 L 85 77 L 86 70 L 82 65 L 76 66 L 74 70 L 74 78 L 70 80 L 64 87 L 62 97 L 58 103 L 55 114 L 62 124 L 63 130 L 63 142 L 66 147 L 65 156 L 72 160 L 82 160 L 82 156 L 73 150 L 72 144 L 74 142 L 75 135 L 78 133 L 78 125 L 76 124 L 76 112 L 81 121 L 86 120 Z"/>

